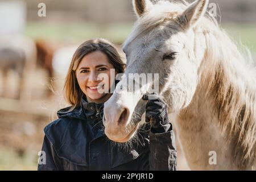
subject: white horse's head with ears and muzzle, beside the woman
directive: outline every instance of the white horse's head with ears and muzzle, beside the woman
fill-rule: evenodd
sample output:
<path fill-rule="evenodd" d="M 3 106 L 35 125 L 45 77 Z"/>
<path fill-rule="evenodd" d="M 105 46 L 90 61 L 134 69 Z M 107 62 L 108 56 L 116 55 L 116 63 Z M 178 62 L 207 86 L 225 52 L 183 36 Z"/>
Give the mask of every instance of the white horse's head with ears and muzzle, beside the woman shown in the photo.
<path fill-rule="evenodd" d="M 205 42 L 195 37 L 200 36 L 199 22 L 208 0 L 190 5 L 134 0 L 133 6 L 138 20 L 123 46 L 127 58 L 125 76 L 156 73 L 158 83 L 147 82 L 140 88 L 144 86 L 148 92 L 148 85 L 158 84 L 159 95 L 170 112 L 187 107 L 195 94 L 197 69 L 204 57 Z M 126 82 L 122 79 L 117 87 Z M 141 89 L 136 91 L 115 92 L 105 103 L 105 134 L 115 142 L 127 142 L 138 129 L 146 102 Z"/>

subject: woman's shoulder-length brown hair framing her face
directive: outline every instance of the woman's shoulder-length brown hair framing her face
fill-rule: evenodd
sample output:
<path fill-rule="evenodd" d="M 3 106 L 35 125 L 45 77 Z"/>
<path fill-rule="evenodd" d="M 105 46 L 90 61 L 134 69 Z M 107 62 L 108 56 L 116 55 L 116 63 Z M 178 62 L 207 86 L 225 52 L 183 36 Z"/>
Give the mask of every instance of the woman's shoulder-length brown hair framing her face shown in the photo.
<path fill-rule="evenodd" d="M 113 65 L 115 72 L 125 72 L 125 64 L 119 56 L 117 49 L 115 49 L 113 44 L 108 40 L 92 39 L 82 43 L 73 55 L 64 85 L 65 100 L 72 105 L 69 111 L 80 106 L 82 95 L 84 94 L 77 82 L 76 69 L 84 56 L 94 51 L 105 53 L 105 55 L 108 56 L 109 63 Z"/>

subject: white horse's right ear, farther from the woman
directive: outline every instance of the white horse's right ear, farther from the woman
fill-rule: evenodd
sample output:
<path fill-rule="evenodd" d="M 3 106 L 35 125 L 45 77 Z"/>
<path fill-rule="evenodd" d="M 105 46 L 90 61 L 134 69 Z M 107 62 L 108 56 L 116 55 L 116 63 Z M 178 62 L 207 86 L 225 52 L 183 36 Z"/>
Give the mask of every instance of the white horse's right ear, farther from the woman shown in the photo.
<path fill-rule="evenodd" d="M 195 26 L 199 19 L 207 11 L 208 0 L 197 0 L 193 2 L 179 17 L 179 23 L 184 28 Z"/>

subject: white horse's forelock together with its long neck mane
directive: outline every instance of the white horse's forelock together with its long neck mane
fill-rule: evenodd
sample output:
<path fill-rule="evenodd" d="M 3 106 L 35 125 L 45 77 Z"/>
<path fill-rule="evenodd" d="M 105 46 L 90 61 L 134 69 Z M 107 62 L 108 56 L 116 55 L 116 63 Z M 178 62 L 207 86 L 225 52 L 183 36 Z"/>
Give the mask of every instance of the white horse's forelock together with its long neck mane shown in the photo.
<path fill-rule="evenodd" d="M 188 5 L 186 1 L 157 2 L 154 9 L 137 20 L 125 45 L 165 22 L 169 22 L 168 26 L 171 22 L 171 28 L 179 31 L 176 17 Z M 216 18 L 207 13 L 200 21 L 193 29 L 197 35 L 203 33 L 207 48 L 199 68 L 199 89 L 206 87 L 206 96 L 213 100 L 222 132 L 228 133 L 227 140 L 235 144 L 235 162 L 245 169 L 256 155 L 256 69 L 250 52 L 247 51 L 249 56 L 245 59 L 239 46 L 218 26 Z"/>

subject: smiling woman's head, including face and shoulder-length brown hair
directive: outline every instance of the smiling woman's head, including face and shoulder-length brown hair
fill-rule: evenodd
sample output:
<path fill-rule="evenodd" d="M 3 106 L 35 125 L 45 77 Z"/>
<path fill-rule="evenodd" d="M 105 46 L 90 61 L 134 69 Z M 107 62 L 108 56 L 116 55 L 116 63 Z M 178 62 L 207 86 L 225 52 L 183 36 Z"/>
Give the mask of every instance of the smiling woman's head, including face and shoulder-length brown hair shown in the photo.
<path fill-rule="evenodd" d="M 64 86 L 66 100 L 73 106 L 71 110 L 81 104 L 82 94 L 85 94 L 89 101 L 97 104 L 109 99 L 111 94 L 99 93 L 98 87 L 112 86 L 114 80 L 110 79 L 110 69 L 115 69 L 115 74 L 123 73 L 125 64 L 108 40 L 88 40 L 77 48 Z M 100 73 L 108 75 L 109 80 L 98 80 Z M 100 83 L 103 85 L 99 85 Z"/>

